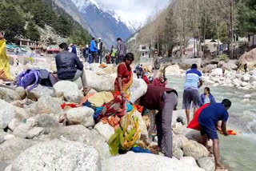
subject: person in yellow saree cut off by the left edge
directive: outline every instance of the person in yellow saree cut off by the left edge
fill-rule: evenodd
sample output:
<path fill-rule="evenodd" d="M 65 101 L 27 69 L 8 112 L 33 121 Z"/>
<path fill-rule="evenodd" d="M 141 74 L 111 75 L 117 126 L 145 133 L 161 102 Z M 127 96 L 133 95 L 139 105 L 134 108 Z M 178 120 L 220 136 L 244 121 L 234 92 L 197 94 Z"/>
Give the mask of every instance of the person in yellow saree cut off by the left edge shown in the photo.
<path fill-rule="evenodd" d="M 10 81 L 10 58 L 6 55 L 6 40 L 2 32 L 0 32 L 0 79 Z"/>

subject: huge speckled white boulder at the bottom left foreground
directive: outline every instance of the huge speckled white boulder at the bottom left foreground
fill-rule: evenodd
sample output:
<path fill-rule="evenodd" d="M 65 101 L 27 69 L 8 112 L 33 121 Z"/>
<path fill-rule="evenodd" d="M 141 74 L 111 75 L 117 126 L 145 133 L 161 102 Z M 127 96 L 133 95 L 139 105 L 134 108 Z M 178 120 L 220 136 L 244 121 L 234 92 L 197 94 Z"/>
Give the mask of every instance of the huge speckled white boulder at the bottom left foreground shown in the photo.
<path fill-rule="evenodd" d="M 26 149 L 13 162 L 12 170 L 100 170 L 96 149 L 82 142 L 48 141 Z"/>

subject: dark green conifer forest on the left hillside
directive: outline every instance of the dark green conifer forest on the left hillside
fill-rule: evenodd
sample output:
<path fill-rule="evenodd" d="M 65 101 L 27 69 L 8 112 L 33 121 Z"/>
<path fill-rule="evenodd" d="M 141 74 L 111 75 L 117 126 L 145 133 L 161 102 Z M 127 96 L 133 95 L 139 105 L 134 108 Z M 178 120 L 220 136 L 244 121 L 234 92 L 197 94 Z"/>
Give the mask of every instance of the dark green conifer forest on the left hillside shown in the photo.
<path fill-rule="evenodd" d="M 50 26 L 54 34 L 69 38 L 70 42 L 85 45 L 90 34 L 52 0 L 3 0 L 0 4 L 0 30 L 8 42 L 29 38 L 40 42 L 38 28 Z M 49 38 L 48 44 L 52 44 Z"/>

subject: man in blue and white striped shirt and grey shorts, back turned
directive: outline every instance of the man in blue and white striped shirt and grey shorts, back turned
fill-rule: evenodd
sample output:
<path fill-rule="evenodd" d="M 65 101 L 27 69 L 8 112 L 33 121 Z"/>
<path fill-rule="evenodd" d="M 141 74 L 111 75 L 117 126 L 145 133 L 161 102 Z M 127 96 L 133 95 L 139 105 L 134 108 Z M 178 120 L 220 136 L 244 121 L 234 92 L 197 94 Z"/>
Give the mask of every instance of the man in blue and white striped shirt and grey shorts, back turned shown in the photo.
<path fill-rule="evenodd" d="M 186 109 L 187 123 L 190 123 L 190 105 L 193 101 L 194 113 L 200 108 L 198 88 L 202 86 L 202 73 L 198 71 L 198 65 L 193 64 L 191 70 L 186 71 L 186 82 L 183 91 L 183 109 Z"/>

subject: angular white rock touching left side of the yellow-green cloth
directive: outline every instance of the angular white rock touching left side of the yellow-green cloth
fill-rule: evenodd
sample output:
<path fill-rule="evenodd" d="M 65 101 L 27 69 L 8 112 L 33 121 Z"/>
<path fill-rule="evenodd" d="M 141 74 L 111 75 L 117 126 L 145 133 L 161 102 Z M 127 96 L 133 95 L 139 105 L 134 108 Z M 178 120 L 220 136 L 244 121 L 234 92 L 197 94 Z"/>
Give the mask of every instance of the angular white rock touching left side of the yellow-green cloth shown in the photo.
<path fill-rule="evenodd" d="M 109 124 L 103 124 L 102 121 L 98 122 L 98 124 L 94 126 L 94 129 L 97 130 L 102 137 L 106 138 L 106 142 L 108 142 L 110 137 L 114 134 L 114 128 Z"/>

